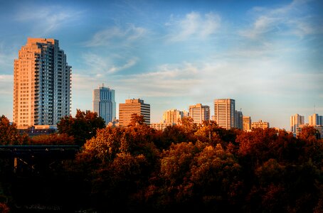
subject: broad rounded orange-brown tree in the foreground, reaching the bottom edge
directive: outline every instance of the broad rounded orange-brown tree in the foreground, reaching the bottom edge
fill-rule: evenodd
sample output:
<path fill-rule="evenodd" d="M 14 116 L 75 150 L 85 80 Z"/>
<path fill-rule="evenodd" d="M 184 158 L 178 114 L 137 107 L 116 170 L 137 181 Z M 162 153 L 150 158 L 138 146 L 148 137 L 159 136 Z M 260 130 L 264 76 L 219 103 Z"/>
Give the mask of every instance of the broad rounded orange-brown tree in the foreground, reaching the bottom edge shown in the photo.
<path fill-rule="evenodd" d="M 154 192 L 147 193 L 147 200 L 157 197 L 157 209 L 184 212 L 234 209 L 242 185 L 238 176 L 241 168 L 220 143 L 216 147 L 200 141 L 173 143 L 163 152 L 160 164 L 161 180 L 149 186 L 155 188 Z"/>

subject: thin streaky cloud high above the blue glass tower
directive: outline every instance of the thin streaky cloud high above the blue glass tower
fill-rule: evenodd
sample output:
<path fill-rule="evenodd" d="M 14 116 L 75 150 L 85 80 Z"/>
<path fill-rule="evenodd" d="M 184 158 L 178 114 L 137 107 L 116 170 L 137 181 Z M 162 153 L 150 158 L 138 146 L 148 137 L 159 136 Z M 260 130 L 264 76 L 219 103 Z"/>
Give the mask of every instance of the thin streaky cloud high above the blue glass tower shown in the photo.
<path fill-rule="evenodd" d="M 105 46 L 112 45 L 116 41 L 118 45 L 122 43 L 127 44 L 144 38 L 147 33 L 146 28 L 137 27 L 132 24 L 129 24 L 127 28 L 114 26 L 95 33 L 92 39 L 86 42 L 85 45 L 88 47 Z"/>

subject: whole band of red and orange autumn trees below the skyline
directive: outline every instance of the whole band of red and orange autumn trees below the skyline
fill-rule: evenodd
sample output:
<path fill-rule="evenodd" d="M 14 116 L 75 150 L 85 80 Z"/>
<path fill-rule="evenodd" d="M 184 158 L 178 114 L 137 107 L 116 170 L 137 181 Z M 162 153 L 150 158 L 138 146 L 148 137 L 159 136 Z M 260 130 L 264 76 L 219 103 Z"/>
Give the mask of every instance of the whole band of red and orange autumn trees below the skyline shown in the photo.
<path fill-rule="evenodd" d="M 0 212 L 35 205 L 53 212 L 323 212 L 316 129 L 295 138 L 189 118 L 157 131 L 142 121 L 105 127 L 97 114 L 78 110 L 61 119 L 58 133 L 29 138 L 1 116 L 1 145 L 76 144 L 80 152 L 55 170 L 18 177 L 1 159 Z"/>

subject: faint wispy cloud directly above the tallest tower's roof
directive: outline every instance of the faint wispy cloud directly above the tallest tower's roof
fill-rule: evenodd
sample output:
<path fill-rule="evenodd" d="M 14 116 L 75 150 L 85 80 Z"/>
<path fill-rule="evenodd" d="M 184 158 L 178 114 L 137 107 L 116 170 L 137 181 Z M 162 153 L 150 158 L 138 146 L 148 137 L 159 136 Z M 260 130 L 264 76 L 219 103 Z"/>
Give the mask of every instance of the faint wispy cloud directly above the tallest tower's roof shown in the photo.
<path fill-rule="evenodd" d="M 78 20 L 82 12 L 59 6 L 26 6 L 16 14 L 16 21 L 32 23 L 33 33 L 47 34 Z"/>

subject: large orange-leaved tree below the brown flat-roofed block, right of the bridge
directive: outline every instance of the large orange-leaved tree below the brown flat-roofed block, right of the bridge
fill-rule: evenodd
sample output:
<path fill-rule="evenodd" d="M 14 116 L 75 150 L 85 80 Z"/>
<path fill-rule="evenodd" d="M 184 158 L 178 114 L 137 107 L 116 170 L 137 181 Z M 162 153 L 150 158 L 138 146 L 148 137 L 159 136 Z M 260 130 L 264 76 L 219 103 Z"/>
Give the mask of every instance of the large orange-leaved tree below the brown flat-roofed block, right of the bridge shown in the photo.
<path fill-rule="evenodd" d="M 77 156 L 78 165 L 88 171 L 83 175 L 92 187 L 92 200 L 102 211 L 131 202 L 154 170 L 159 155 L 154 130 L 141 119 L 134 116 L 127 128 L 99 129 Z"/>

